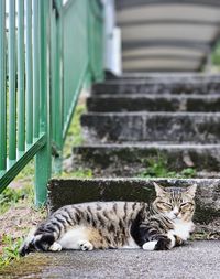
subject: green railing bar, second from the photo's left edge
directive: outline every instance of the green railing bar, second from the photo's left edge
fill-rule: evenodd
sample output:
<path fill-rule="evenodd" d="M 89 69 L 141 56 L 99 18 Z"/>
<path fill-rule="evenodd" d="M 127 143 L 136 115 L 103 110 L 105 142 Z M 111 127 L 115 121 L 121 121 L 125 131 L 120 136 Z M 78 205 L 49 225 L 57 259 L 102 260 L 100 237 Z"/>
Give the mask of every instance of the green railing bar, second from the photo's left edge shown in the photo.
<path fill-rule="evenodd" d="M 15 1 L 9 2 L 9 160 L 16 159 Z"/>

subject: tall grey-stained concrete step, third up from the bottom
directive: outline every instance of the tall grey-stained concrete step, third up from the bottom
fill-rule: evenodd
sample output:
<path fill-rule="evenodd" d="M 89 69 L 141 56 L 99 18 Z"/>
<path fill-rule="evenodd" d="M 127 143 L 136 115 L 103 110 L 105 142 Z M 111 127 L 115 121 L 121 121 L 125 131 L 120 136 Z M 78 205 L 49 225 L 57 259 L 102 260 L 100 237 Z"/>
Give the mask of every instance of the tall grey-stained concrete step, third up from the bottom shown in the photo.
<path fill-rule="evenodd" d="M 81 125 L 87 142 L 220 141 L 220 112 L 88 112 Z"/>

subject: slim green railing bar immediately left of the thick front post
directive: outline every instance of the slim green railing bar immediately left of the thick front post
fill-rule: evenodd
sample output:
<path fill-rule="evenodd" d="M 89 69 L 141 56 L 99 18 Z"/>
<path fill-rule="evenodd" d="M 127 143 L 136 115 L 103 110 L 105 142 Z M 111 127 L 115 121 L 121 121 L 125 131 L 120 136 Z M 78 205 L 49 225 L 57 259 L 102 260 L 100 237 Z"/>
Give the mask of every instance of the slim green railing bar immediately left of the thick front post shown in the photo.
<path fill-rule="evenodd" d="M 40 35 L 38 35 L 38 0 L 33 2 L 33 95 L 34 95 L 34 137 L 40 133 Z"/>

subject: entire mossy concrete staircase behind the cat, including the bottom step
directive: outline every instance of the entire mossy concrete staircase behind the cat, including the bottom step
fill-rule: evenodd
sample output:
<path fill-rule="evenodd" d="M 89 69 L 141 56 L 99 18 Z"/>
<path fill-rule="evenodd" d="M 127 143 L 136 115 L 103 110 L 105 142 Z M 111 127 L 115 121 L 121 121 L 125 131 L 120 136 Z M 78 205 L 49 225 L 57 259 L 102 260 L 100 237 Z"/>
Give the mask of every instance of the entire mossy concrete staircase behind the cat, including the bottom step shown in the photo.
<path fill-rule="evenodd" d="M 52 180 L 50 208 L 95 200 L 154 196 L 152 179 L 132 179 L 150 160 L 167 170 L 191 168 L 194 179 L 157 179 L 163 185 L 198 184 L 196 221 L 220 236 L 220 78 L 199 74 L 129 74 L 96 84 L 81 116 L 85 144 L 74 148 L 73 168 L 94 180 Z M 105 179 L 102 179 L 105 178 Z"/>

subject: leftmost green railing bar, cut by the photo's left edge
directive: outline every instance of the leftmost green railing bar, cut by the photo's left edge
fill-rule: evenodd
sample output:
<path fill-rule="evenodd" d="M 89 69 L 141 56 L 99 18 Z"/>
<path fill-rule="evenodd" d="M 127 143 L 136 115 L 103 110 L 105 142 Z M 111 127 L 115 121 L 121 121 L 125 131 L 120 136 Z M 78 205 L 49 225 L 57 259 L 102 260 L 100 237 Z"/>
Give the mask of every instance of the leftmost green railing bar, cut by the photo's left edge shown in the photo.
<path fill-rule="evenodd" d="M 0 1 L 0 171 L 7 169 L 6 2 Z"/>

